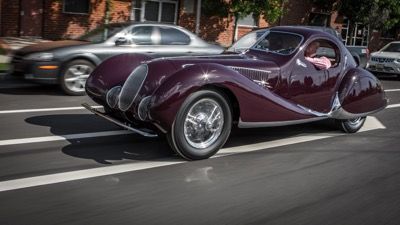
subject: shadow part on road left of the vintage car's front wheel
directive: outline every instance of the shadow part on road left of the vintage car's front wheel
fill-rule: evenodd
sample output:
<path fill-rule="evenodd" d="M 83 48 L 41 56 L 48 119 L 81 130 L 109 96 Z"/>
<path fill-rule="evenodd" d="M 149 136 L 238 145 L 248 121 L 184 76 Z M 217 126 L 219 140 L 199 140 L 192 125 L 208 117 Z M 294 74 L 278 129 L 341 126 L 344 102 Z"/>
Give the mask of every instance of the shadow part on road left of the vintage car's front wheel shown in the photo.
<path fill-rule="evenodd" d="M 93 114 L 42 115 L 25 119 L 29 124 L 49 127 L 53 135 L 67 138 L 68 145 L 62 153 L 101 164 L 113 164 L 122 160 L 157 160 L 176 157 L 166 140 L 145 138 L 137 134 L 72 138 L 71 135 L 121 131 L 122 129 Z"/>

